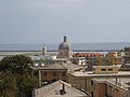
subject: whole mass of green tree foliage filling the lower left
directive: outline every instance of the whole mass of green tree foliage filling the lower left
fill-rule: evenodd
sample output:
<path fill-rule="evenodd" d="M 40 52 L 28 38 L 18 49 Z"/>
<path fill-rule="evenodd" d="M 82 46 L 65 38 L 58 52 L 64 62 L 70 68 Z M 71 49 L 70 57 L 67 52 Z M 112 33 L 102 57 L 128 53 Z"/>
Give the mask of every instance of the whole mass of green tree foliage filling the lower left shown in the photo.
<path fill-rule="evenodd" d="M 0 91 L 0 97 L 31 97 L 34 87 L 37 86 L 37 78 L 30 68 L 32 60 L 23 55 L 4 57 L 0 61 L 0 87 L 8 84 L 5 91 Z M 10 73 L 9 73 L 10 72 Z M 2 75 L 6 74 L 4 78 Z M 11 82 L 8 82 L 11 81 Z M 3 81 L 4 82 L 3 84 Z M 10 83 L 10 84 L 9 84 Z M 11 86 L 13 84 L 13 86 Z M 10 92 L 10 87 L 12 92 Z M 13 93 L 13 96 L 2 96 L 3 94 Z"/>

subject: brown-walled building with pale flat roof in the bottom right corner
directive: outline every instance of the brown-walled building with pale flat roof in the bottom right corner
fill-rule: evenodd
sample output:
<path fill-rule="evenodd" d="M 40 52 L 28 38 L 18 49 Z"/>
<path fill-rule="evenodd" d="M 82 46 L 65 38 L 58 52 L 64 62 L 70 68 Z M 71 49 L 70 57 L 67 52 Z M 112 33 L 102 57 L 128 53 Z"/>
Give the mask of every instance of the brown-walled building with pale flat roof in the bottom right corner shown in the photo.
<path fill-rule="evenodd" d="M 93 79 L 93 97 L 130 97 L 130 78 Z"/>

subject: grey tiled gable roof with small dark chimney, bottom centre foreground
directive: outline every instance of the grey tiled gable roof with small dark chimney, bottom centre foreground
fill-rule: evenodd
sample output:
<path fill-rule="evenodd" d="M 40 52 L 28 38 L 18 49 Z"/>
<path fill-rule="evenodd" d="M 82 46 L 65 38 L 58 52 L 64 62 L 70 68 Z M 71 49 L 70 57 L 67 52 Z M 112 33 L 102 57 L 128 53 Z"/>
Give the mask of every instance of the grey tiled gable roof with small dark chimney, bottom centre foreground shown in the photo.
<path fill-rule="evenodd" d="M 61 94 L 61 89 L 63 89 L 63 84 L 65 88 L 65 94 Z M 47 86 L 40 87 L 35 89 L 35 97 L 89 97 L 83 92 L 80 92 L 74 87 L 72 87 L 70 84 L 63 82 L 63 81 L 56 81 L 52 84 L 49 84 Z"/>

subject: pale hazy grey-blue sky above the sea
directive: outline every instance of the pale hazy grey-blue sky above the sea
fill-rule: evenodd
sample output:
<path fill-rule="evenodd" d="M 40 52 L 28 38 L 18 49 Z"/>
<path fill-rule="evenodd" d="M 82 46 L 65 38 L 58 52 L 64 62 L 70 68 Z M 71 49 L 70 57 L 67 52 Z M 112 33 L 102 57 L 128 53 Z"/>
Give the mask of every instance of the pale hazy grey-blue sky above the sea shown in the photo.
<path fill-rule="evenodd" d="M 0 44 L 130 42 L 130 0 L 0 0 Z"/>

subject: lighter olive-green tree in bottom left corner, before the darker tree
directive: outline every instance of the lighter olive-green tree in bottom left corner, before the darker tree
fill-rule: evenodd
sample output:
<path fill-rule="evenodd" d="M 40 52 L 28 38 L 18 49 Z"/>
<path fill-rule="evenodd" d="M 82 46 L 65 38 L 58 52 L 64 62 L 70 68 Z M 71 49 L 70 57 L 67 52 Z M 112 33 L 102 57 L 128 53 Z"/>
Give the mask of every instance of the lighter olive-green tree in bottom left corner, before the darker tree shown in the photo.
<path fill-rule="evenodd" d="M 0 73 L 0 97 L 17 97 L 15 77 L 11 71 Z"/>

